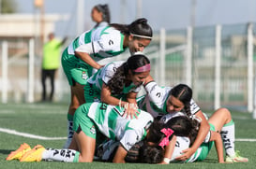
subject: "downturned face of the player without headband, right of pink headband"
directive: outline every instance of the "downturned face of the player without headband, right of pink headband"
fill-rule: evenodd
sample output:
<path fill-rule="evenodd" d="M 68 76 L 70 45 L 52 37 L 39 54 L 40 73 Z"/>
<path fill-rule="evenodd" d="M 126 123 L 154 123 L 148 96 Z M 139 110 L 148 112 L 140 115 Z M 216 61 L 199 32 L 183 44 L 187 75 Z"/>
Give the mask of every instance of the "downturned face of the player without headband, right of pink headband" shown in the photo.
<path fill-rule="evenodd" d="M 179 99 L 177 99 L 173 95 L 169 96 L 167 103 L 166 103 L 166 111 L 168 113 L 174 113 L 177 111 L 181 111 L 183 108 L 184 108 L 184 104 Z"/>

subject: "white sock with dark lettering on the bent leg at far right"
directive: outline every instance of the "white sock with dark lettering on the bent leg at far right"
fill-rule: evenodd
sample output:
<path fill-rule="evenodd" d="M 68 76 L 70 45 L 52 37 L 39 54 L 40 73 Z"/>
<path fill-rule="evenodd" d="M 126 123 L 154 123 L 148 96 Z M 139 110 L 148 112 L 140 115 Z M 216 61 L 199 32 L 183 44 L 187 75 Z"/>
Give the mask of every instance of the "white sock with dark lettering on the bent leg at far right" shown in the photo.
<path fill-rule="evenodd" d="M 229 123 L 225 124 L 220 132 L 226 154 L 230 157 L 235 155 L 234 151 L 234 123 L 231 120 Z"/>

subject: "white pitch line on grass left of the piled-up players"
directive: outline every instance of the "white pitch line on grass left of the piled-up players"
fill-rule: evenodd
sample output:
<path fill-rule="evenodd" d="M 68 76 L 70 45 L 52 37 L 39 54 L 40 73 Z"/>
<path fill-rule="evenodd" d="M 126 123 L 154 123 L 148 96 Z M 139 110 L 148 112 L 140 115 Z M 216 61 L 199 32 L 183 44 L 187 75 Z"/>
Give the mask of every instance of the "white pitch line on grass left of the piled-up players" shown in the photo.
<path fill-rule="evenodd" d="M 4 129 L 4 128 L 0 128 L 0 132 L 6 133 L 6 134 L 20 135 L 20 136 L 28 137 L 28 138 L 35 138 L 38 140 L 65 140 L 65 139 L 67 139 L 67 137 L 46 137 L 46 136 L 40 136 L 40 135 L 35 135 L 35 134 L 26 134 L 26 133 L 17 132 L 15 130 Z"/>

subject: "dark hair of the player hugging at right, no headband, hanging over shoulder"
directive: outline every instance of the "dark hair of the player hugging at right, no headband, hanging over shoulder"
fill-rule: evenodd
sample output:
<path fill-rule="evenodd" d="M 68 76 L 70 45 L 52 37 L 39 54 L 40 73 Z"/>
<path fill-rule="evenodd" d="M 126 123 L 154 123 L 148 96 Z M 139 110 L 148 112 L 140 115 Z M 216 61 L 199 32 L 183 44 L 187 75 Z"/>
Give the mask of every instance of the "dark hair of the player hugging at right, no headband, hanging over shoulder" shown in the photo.
<path fill-rule="evenodd" d="M 173 95 L 175 98 L 177 98 L 184 104 L 184 110 L 188 117 L 191 116 L 190 101 L 192 99 L 192 94 L 193 92 L 191 88 L 189 88 L 188 85 L 186 84 L 178 84 L 174 86 L 169 93 L 169 95 Z"/>

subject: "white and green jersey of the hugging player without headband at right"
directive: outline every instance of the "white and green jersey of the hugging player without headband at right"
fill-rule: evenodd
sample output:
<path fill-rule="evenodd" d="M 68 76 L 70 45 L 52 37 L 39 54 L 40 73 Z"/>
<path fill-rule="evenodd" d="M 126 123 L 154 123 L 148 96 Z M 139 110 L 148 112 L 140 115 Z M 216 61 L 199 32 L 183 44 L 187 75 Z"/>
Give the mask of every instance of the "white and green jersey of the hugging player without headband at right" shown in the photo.
<path fill-rule="evenodd" d="M 166 111 L 166 101 L 172 88 L 159 87 L 155 81 L 152 81 L 146 84 L 144 89 L 146 91 L 146 95 L 138 100 L 139 108 L 143 109 L 146 112 L 149 112 L 153 117 L 157 117 L 159 114 L 169 114 Z M 197 106 L 193 99 L 191 99 L 191 114 L 194 115 L 199 110 L 200 107 Z"/>

